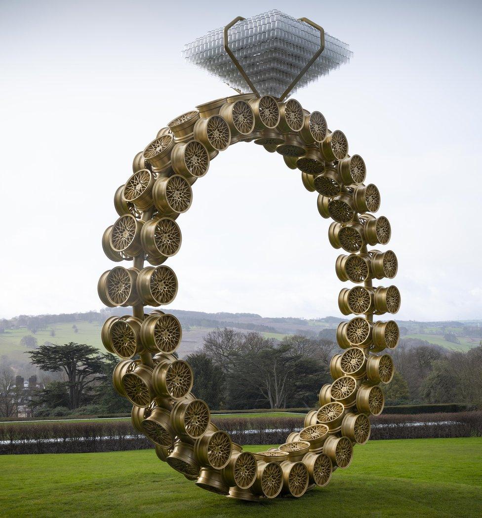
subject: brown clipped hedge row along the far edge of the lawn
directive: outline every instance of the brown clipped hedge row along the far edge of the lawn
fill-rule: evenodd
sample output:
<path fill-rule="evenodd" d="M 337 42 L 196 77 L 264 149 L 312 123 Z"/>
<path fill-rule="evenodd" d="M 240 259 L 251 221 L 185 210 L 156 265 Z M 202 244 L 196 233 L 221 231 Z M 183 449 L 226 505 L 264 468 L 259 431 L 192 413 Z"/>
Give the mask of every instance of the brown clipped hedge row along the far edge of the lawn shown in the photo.
<path fill-rule="evenodd" d="M 239 444 L 280 444 L 303 418 L 214 418 Z M 381 415 L 372 419 L 372 439 L 482 436 L 482 411 Z M 0 425 L 0 454 L 87 453 L 152 448 L 130 421 Z"/>

